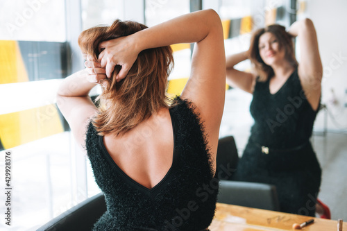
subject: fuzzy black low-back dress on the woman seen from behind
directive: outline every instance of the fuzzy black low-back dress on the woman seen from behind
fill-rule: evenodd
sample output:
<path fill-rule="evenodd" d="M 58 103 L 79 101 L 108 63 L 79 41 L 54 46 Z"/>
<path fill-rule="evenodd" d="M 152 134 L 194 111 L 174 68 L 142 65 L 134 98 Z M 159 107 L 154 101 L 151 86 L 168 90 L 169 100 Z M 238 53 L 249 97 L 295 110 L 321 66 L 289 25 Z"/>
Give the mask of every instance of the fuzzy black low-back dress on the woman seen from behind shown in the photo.
<path fill-rule="evenodd" d="M 107 211 L 93 230 L 205 230 L 214 217 L 218 180 L 212 176 L 203 126 L 191 103 L 169 109 L 174 130 L 173 164 L 152 189 L 115 164 L 90 123 L 86 148 Z"/>

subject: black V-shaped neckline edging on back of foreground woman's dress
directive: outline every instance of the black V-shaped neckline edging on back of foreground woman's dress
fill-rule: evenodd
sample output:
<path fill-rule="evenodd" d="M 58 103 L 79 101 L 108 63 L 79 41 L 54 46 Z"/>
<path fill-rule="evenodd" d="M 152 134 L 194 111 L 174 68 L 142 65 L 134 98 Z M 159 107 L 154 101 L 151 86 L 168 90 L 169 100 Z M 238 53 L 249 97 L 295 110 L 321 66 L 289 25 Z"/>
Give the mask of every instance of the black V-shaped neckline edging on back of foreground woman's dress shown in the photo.
<path fill-rule="evenodd" d="M 167 171 L 167 173 L 164 175 L 164 178 L 162 178 L 162 180 L 160 180 L 160 182 L 158 182 L 152 188 L 148 188 L 148 187 L 145 187 L 144 185 L 141 185 L 139 182 L 137 182 L 133 178 L 130 178 L 130 176 L 128 176 L 128 174 L 126 174 L 123 170 L 121 170 L 121 168 L 112 159 L 110 153 L 108 153 L 108 151 L 105 147 L 105 144 L 103 144 L 103 136 L 99 136 L 99 146 L 101 147 L 101 152 L 105 156 L 105 158 L 108 161 L 108 163 L 110 164 L 110 166 L 115 168 L 120 173 L 121 178 L 123 178 L 124 181 L 128 185 L 130 185 L 131 187 L 133 187 L 135 189 L 138 189 L 139 191 L 142 191 L 144 194 L 146 194 L 148 196 L 155 196 L 156 194 L 159 193 L 160 189 L 162 187 L 164 187 L 167 184 L 167 182 L 169 182 L 169 179 L 171 179 L 171 172 L 173 171 L 173 169 L 176 166 L 176 162 L 177 162 L 177 158 L 178 158 L 177 145 L 176 145 L 176 142 L 177 142 L 176 118 L 174 117 L 174 114 L 173 114 L 173 112 L 171 112 L 170 109 L 169 109 L 169 114 L 170 114 L 170 118 L 171 118 L 172 132 L 174 135 L 174 151 L 172 153 L 172 164 L 171 164 L 169 170 Z"/>

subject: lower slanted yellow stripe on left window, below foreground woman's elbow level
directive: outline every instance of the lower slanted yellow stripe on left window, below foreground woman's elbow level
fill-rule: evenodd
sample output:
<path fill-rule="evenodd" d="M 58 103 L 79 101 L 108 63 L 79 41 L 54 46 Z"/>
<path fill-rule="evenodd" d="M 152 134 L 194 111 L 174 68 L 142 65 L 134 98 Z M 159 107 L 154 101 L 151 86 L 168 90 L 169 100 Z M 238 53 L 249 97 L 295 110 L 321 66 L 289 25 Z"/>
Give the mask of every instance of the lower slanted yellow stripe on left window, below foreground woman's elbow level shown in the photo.
<path fill-rule="evenodd" d="M 64 132 L 55 104 L 0 115 L 0 137 L 5 149 Z"/>

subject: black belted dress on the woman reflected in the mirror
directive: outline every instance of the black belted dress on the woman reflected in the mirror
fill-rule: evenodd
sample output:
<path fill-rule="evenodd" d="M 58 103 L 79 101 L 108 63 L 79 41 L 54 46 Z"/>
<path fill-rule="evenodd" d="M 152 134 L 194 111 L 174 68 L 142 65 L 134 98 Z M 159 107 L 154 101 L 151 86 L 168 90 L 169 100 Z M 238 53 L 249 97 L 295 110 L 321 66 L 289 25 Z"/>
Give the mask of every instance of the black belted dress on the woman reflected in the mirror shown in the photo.
<path fill-rule="evenodd" d="M 321 167 L 310 137 L 314 111 L 298 70 L 276 92 L 257 82 L 251 102 L 254 125 L 233 180 L 276 185 L 282 212 L 314 216 Z"/>

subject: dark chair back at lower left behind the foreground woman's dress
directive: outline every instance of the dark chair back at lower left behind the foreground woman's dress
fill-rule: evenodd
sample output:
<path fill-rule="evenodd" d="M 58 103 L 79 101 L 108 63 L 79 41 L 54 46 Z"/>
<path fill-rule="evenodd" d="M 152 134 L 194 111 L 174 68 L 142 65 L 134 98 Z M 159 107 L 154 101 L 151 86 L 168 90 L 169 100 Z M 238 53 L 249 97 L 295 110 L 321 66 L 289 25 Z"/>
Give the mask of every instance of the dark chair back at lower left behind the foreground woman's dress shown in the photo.
<path fill-rule="evenodd" d="M 105 211 L 105 197 L 100 193 L 60 214 L 37 231 L 92 230 L 94 223 Z"/>

